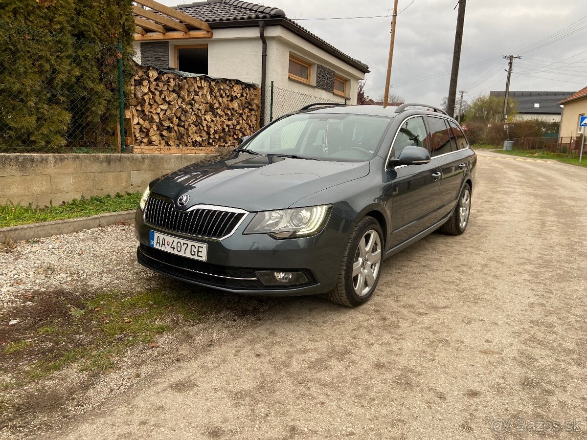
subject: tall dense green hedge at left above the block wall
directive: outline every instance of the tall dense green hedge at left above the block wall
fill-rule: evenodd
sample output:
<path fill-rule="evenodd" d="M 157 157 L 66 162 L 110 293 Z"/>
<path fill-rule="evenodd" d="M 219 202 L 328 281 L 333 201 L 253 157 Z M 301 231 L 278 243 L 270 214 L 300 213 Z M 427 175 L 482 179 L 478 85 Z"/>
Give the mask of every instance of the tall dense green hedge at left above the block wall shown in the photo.
<path fill-rule="evenodd" d="M 119 39 L 132 69 L 130 1 L 0 0 L 0 29 L 0 151 L 112 140 Z"/>

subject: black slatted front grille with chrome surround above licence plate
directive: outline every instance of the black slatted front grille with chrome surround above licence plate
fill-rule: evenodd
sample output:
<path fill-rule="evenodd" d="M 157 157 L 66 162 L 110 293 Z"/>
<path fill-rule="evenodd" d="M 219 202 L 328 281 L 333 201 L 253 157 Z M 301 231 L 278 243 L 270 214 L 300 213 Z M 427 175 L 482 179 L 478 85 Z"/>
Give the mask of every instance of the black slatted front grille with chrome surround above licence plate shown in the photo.
<path fill-rule="evenodd" d="M 230 235 L 245 214 L 204 208 L 178 211 L 173 202 L 151 196 L 147 199 L 144 216 L 147 223 L 167 231 L 219 239 Z"/>

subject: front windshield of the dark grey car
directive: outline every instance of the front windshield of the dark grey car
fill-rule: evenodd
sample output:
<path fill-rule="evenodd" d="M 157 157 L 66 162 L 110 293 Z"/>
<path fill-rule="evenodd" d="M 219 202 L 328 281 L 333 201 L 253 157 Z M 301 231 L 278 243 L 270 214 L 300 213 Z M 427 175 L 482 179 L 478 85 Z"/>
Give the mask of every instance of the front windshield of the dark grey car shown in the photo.
<path fill-rule="evenodd" d="M 248 141 L 244 150 L 266 155 L 362 162 L 375 156 L 391 120 L 359 114 L 292 114 Z"/>

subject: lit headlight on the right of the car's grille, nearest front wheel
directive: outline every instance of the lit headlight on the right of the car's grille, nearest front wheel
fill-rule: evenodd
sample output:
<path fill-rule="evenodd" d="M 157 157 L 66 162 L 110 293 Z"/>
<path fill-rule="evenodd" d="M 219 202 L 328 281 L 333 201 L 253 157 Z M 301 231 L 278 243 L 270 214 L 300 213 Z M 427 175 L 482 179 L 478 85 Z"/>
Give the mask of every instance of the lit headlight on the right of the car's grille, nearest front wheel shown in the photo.
<path fill-rule="evenodd" d="M 268 233 L 275 238 L 301 238 L 322 231 L 331 205 L 258 212 L 244 233 Z"/>

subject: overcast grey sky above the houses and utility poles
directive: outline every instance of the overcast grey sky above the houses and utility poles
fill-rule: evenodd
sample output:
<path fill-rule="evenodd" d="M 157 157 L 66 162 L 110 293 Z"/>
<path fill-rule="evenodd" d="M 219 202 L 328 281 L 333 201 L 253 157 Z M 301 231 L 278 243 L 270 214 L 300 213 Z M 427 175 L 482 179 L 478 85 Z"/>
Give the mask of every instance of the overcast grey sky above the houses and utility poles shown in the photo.
<path fill-rule="evenodd" d="M 410 5 L 411 0 L 399 0 L 399 11 L 406 6 L 407 9 L 397 18 L 391 93 L 430 104 L 440 104 L 447 96 L 457 22 L 453 8 L 457 1 L 414 0 Z M 366 76 L 367 95 L 382 96 L 390 18 L 307 19 L 390 15 L 392 0 L 257 3 L 283 9 L 289 18 L 300 19 L 298 23 L 309 31 L 367 63 L 371 70 Z M 458 90 L 466 90 L 468 100 L 490 90 L 504 90 L 507 60 L 502 56 L 511 53 L 522 59 L 515 60 L 510 90 L 574 92 L 587 86 L 586 11 L 584 0 L 468 0 Z M 567 26 L 570 27 L 565 30 Z M 555 35 L 550 37 L 552 34 Z M 561 38 L 565 35 L 568 36 Z M 417 81 L 431 75 L 436 77 Z"/>

